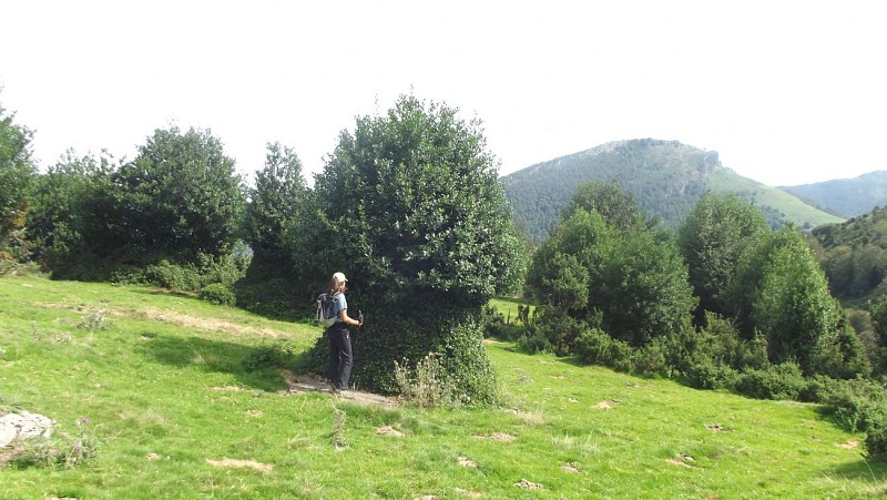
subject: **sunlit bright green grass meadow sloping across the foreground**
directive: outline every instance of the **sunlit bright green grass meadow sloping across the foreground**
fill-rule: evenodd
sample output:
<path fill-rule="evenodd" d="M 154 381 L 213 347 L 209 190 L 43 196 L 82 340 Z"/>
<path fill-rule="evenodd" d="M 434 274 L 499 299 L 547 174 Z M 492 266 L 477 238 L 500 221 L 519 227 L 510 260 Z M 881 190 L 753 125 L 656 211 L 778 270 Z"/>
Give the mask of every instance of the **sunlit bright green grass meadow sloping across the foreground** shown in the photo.
<path fill-rule="evenodd" d="M 78 328 L 90 317 L 104 329 Z M 318 335 L 151 289 L 0 277 L 0 408 L 47 415 L 60 431 L 89 417 L 101 442 L 73 469 L 0 470 L 0 498 L 887 493 L 887 466 L 866 462 L 852 445 L 863 436 L 816 406 L 697 391 L 509 343 L 487 344 L 500 408 L 363 407 L 287 395 L 282 374 L 242 367 L 255 347 L 304 350 Z M 388 427 L 402 436 L 379 433 Z"/>

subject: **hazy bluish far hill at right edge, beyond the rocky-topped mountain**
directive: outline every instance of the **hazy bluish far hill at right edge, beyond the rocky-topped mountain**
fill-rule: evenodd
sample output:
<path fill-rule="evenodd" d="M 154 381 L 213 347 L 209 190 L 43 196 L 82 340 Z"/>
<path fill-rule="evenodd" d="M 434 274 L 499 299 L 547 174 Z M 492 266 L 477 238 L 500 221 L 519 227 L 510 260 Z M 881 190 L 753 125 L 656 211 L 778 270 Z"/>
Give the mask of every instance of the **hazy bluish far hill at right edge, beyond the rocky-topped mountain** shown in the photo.
<path fill-rule="evenodd" d="M 856 178 L 779 186 L 807 203 L 843 217 L 855 217 L 887 206 L 887 171 L 871 172 Z"/>

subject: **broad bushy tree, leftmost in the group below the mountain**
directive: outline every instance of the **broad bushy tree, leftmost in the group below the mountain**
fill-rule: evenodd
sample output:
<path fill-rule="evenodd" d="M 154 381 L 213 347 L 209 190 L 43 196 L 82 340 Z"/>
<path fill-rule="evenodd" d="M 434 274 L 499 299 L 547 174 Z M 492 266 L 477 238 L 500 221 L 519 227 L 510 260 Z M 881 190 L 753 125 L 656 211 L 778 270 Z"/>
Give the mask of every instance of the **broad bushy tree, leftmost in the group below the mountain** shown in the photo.
<path fill-rule="evenodd" d="M 631 197 L 614 187 L 592 185 L 577 193 L 533 256 L 527 286 L 574 319 L 600 324 L 612 337 L 640 347 L 690 328 L 696 299 L 674 242 L 656 233 Z M 634 214 L 633 223 L 624 213 Z"/>

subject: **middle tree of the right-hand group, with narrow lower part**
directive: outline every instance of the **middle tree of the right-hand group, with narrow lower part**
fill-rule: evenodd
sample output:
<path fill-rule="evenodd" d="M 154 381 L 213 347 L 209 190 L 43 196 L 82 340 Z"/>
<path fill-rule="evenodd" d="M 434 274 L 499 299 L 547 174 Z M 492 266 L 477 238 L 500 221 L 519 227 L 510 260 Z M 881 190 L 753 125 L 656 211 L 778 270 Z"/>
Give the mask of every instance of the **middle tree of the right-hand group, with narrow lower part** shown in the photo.
<path fill-rule="evenodd" d="M 738 196 L 707 193 L 696 202 L 679 229 L 679 244 L 700 298 L 697 323 L 706 310 L 731 316 L 724 294 L 736 267 L 769 232 L 764 214 Z"/>

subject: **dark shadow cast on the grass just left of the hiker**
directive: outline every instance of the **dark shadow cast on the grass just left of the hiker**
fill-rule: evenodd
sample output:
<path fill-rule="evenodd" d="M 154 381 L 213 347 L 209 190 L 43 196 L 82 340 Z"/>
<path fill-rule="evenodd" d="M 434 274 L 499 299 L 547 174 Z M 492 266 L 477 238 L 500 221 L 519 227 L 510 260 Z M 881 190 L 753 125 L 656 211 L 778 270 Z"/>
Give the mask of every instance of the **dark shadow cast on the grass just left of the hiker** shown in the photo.
<path fill-rule="evenodd" d="M 286 389 L 288 386 L 279 368 L 290 368 L 297 363 L 283 343 L 248 346 L 201 337 L 156 335 L 142 350 L 146 358 L 157 363 L 230 374 L 244 387 L 264 391 Z"/>

